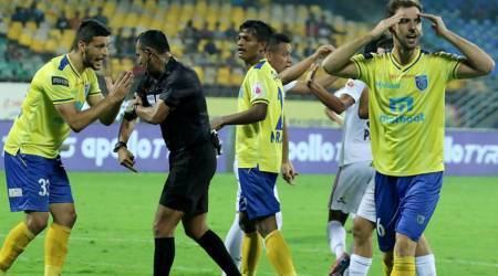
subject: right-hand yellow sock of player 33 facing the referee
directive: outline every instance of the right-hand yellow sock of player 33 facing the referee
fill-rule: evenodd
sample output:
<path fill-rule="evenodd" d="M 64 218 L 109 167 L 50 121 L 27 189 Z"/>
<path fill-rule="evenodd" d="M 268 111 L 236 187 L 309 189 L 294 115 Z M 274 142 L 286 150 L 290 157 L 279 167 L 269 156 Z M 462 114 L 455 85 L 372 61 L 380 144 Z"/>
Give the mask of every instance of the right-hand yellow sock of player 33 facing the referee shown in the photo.
<path fill-rule="evenodd" d="M 52 223 L 45 236 L 45 275 L 59 276 L 68 255 L 71 229 Z"/>

